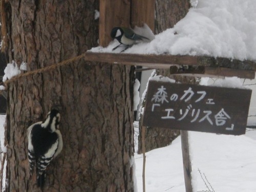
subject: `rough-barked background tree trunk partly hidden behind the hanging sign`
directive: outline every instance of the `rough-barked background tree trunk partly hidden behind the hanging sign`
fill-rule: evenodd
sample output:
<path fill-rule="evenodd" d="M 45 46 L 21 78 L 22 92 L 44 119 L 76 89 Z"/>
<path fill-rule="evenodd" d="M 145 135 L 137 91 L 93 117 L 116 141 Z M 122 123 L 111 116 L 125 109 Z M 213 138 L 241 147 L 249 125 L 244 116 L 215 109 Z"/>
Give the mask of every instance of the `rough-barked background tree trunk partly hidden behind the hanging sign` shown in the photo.
<path fill-rule="evenodd" d="M 156 34 L 174 27 L 188 12 L 190 8 L 189 0 L 156 0 L 156 19 L 155 19 L 155 32 Z M 157 70 L 158 75 L 170 76 L 169 70 Z M 184 82 L 194 81 L 194 78 L 177 77 L 176 80 Z M 140 119 L 142 120 L 142 118 Z M 139 146 L 138 153 L 142 153 L 141 145 L 141 122 L 139 126 Z M 170 125 L 171 128 L 171 125 Z M 147 127 L 145 131 L 145 150 L 150 151 L 154 148 L 166 146 L 179 136 L 179 130 L 163 129 L 160 127 Z"/>

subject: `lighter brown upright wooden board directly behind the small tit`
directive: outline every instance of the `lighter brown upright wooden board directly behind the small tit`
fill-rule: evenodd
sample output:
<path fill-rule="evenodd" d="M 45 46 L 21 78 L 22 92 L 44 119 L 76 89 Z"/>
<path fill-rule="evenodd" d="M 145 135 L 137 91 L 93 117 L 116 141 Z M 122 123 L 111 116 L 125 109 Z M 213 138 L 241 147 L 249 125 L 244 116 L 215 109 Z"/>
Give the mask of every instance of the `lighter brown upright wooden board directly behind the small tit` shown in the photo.
<path fill-rule="evenodd" d="M 106 47 L 114 27 L 130 27 L 130 1 L 100 0 L 99 10 L 99 45 Z"/>

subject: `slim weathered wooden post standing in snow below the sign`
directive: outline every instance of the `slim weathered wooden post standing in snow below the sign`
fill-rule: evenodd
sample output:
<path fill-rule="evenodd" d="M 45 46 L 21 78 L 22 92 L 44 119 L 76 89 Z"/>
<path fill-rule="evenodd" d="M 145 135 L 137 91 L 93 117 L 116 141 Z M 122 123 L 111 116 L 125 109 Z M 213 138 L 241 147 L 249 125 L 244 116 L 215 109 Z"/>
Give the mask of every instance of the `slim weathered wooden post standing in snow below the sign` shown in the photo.
<path fill-rule="evenodd" d="M 181 130 L 181 148 L 182 148 L 182 158 L 183 158 L 183 170 L 184 170 L 184 180 L 186 192 L 193 192 L 191 183 L 191 161 L 189 157 L 189 146 L 188 146 L 188 134 L 187 131 Z"/>

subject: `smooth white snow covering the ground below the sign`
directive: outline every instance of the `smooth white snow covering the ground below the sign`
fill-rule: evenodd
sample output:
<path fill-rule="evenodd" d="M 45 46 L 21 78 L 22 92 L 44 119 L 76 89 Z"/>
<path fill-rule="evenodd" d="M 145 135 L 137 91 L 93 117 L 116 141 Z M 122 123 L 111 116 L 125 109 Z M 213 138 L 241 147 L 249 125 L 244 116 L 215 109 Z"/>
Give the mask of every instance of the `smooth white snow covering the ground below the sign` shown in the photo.
<path fill-rule="evenodd" d="M 256 130 L 242 136 L 188 133 L 194 192 L 207 190 L 206 179 L 216 192 L 256 191 Z M 140 192 L 142 154 L 134 158 Z M 147 192 L 185 191 L 180 136 L 171 145 L 146 153 L 145 175 Z"/>

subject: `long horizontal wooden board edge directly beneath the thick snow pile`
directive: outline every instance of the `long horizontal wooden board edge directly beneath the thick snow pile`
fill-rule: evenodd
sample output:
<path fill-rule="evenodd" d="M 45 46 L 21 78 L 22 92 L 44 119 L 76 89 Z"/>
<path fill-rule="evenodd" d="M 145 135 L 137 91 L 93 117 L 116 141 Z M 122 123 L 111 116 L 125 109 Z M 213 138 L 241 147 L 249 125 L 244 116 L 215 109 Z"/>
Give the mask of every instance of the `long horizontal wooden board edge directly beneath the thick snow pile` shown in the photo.
<path fill-rule="evenodd" d="M 86 52 L 84 58 L 87 61 L 137 65 L 154 69 L 169 69 L 174 65 L 188 65 L 256 71 L 256 63 L 253 61 L 231 60 L 222 57 Z"/>

